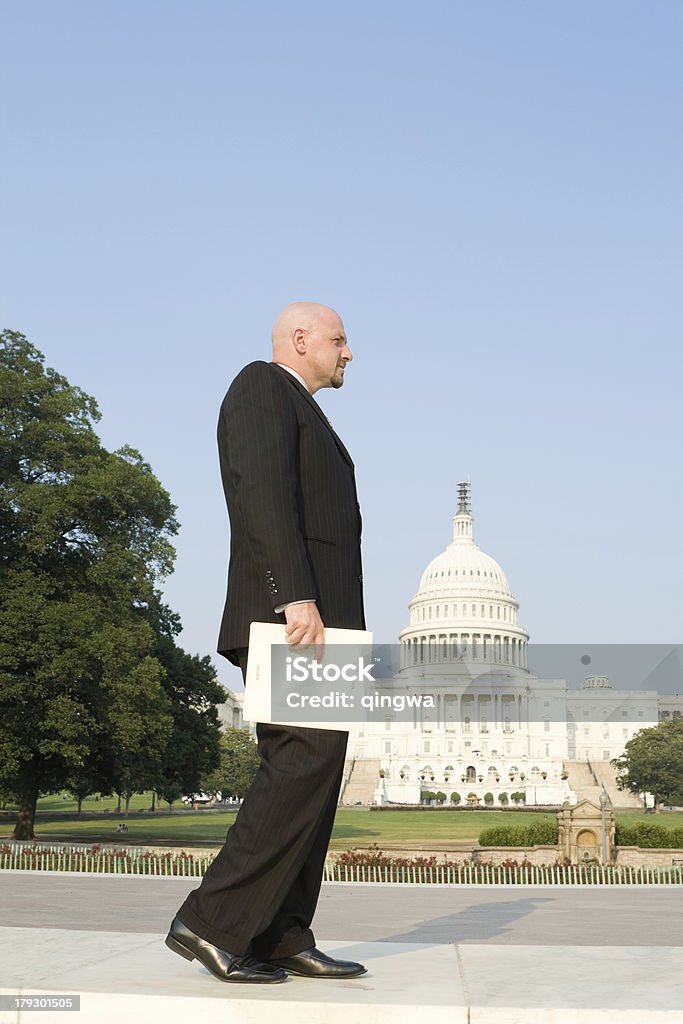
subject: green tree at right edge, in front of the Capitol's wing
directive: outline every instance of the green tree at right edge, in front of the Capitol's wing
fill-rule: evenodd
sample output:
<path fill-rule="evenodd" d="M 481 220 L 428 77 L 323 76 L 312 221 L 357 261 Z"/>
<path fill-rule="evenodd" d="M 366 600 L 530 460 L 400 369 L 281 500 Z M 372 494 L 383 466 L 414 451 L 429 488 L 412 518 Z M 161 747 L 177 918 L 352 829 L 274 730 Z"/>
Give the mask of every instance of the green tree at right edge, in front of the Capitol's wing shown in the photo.
<path fill-rule="evenodd" d="M 683 800 L 683 719 L 641 729 L 613 758 L 616 784 L 632 793 L 651 793 L 654 809 Z"/>

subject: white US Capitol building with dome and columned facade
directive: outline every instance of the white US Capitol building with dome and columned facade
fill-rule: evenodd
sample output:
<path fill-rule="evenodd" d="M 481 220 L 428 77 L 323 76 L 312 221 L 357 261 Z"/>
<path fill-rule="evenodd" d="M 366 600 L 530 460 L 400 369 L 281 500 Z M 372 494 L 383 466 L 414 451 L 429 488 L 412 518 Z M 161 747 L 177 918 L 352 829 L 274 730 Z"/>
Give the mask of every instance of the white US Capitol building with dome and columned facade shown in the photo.
<path fill-rule="evenodd" d="M 440 791 L 463 806 L 486 795 L 496 807 L 559 805 L 604 787 L 614 806 L 642 807 L 617 790 L 609 760 L 640 729 L 681 717 L 683 697 L 620 691 L 605 676 L 579 690 L 535 676 L 505 572 L 474 542 L 469 483 L 458 490 L 451 544 L 423 572 L 399 635 L 398 671 L 378 683 L 431 694 L 433 708 L 353 728 L 341 804 L 418 804 Z"/>

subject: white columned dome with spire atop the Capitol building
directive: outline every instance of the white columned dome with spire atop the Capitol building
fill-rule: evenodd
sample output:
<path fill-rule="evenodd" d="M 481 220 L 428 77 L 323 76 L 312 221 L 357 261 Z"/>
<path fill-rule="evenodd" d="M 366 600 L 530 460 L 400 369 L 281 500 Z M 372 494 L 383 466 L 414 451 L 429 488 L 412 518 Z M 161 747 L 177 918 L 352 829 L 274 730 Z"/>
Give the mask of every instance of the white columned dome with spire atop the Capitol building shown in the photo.
<path fill-rule="evenodd" d="M 474 543 L 470 485 L 459 483 L 453 540 L 422 573 L 401 631 L 403 667 L 431 662 L 485 660 L 525 668 L 528 634 L 519 605 L 495 558 Z"/>

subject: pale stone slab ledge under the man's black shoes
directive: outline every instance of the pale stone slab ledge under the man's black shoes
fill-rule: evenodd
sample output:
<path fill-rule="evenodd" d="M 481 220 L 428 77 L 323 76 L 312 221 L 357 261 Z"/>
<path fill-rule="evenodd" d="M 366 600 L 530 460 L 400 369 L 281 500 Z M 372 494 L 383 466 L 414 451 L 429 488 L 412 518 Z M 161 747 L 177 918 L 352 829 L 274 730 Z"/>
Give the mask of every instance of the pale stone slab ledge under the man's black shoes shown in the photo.
<path fill-rule="evenodd" d="M 680 949 L 335 942 L 369 969 L 345 982 L 230 985 L 164 935 L 2 928 L 6 995 L 80 995 L 78 1024 L 681 1024 Z M 49 1024 L 56 1011 L 1 1011 Z M 68 1018 L 69 1019 L 69 1018 Z"/>

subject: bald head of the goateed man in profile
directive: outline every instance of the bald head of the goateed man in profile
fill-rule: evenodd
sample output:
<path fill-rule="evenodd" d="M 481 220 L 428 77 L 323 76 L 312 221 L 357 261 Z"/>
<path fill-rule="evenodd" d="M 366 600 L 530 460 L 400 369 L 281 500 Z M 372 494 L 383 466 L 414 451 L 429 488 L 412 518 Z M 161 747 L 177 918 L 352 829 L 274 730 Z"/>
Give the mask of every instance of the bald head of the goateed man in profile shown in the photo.
<path fill-rule="evenodd" d="M 272 326 L 272 360 L 296 370 L 311 394 L 339 388 L 353 358 L 341 317 L 319 302 L 292 302 Z"/>

